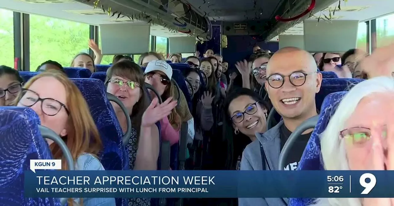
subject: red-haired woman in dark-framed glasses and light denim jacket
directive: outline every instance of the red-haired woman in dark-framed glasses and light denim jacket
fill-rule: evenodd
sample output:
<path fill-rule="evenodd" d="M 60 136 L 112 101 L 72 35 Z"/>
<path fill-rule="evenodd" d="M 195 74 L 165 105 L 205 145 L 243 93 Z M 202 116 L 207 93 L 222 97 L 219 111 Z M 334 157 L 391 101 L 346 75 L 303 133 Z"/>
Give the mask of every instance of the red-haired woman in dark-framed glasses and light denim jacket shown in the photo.
<path fill-rule="evenodd" d="M 38 115 L 41 125 L 52 129 L 67 144 L 76 170 L 104 170 L 97 159 L 102 149 L 99 131 L 89 107 L 78 87 L 60 71 L 43 72 L 24 85 L 17 106 L 30 107 Z M 54 159 L 62 159 L 62 170 L 67 169 L 58 144 L 47 140 Z M 74 198 L 68 205 L 112 206 L 114 198 Z"/>

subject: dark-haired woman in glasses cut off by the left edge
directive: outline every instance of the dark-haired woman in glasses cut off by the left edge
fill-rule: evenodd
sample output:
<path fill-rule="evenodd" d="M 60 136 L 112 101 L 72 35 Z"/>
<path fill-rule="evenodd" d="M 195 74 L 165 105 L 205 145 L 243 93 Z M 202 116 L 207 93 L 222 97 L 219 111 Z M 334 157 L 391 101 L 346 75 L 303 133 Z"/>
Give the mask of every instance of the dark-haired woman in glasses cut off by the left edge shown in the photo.
<path fill-rule="evenodd" d="M 23 79 L 18 70 L 0 66 L 0 106 L 10 106 L 22 89 Z"/>

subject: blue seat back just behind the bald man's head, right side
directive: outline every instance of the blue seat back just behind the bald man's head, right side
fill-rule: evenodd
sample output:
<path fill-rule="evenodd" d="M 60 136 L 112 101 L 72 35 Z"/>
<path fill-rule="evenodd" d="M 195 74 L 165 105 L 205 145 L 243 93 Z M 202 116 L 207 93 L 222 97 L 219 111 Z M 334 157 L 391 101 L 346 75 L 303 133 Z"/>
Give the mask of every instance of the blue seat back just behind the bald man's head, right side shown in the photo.
<path fill-rule="evenodd" d="M 334 92 L 348 91 L 352 86 L 362 82 L 355 78 L 324 78 L 319 93 L 316 94 L 316 109 L 320 111 L 324 98 Z"/>

